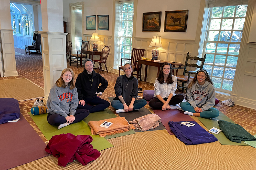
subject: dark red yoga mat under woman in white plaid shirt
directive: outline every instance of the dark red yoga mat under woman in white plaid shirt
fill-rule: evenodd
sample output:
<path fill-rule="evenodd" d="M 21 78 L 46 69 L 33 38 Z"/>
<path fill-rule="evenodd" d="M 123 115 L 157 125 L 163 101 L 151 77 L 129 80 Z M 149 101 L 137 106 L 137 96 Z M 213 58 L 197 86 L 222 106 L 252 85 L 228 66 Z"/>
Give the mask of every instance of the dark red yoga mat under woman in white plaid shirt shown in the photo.
<path fill-rule="evenodd" d="M 166 128 L 167 132 L 170 135 L 174 135 L 174 134 L 168 125 L 169 121 L 174 121 L 174 122 L 195 121 L 189 115 L 184 114 L 183 111 L 178 110 L 178 109 L 170 109 L 170 110 L 164 110 L 164 111 L 161 109 L 153 109 L 153 111 L 155 114 L 157 114 L 161 118 L 161 122 L 163 123 L 164 127 Z"/>

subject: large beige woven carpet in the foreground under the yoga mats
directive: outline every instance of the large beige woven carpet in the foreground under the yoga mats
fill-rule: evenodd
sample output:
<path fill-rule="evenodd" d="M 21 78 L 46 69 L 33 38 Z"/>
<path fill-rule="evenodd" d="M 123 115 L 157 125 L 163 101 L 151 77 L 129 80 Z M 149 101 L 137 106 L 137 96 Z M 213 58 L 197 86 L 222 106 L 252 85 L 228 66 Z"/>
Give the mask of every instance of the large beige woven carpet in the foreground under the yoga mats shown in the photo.
<path fill-rule="evenodd" d="M 204 127 L 196 117 L 195 120 Z M 64 168 L 58 166 L 57 158 L 50 155 L 12 168 L 12 170 L 230 170 L 255 169 L 256 167 L 256 149 L 251 146 L 221 145 L 218 141 L 186 146 L 174 135 L 169 135 L 166 130 L 137 132 L 108 139 L 108 141 L 114 147 L 100 151 L 101 156 L 86 166 L 74 161 Z"/>

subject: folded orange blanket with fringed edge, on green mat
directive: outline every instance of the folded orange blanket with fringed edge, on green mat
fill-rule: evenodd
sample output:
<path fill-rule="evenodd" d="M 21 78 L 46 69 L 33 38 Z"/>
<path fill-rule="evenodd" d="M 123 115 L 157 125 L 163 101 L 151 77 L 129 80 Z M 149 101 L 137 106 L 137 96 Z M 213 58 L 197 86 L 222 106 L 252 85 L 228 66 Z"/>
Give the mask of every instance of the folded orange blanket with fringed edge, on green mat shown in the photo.
<path fill-rule="evenodd" d="M 109 128 L 101 127 L 100 125 L 104 122 L 113 123 Z M 100 121 L 90 121 L 88 125 L 91 128 L 93 135 L 99 135 L 105 137 L 106 135 L 114 135 L 117 133 L 127 132 L 131 129 L 135 129 L 133 125 L 130 125 L 124 117 L 115 117 L 111 119 L 104 119 Z"/>

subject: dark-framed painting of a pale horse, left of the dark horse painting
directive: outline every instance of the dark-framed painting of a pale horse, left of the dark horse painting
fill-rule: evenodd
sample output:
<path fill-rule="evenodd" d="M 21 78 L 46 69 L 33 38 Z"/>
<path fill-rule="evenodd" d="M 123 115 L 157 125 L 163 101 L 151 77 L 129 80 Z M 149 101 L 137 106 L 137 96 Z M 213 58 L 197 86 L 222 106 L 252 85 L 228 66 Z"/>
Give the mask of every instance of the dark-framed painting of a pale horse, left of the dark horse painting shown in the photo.
<path fill-rule="evenodd" d="M 160 32 L 162 12 L 144 12 L 142 21 L 142 31 Z"/>

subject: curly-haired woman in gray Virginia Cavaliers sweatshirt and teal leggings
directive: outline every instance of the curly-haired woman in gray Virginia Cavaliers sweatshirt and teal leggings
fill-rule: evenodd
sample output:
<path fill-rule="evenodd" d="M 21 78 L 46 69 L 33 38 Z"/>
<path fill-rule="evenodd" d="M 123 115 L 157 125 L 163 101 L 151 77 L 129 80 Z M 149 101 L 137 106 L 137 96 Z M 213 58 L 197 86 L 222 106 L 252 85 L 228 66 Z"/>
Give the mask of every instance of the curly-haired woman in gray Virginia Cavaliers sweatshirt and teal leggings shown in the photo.
<path fill-rule="evenodd" d="M 219 111 L 212 108 L 215 105 L 215 89 L 206 70 L 196 72 L 195 77 L 187 86 L 188 102 L 181 102 L 184 114 L 198 117 L 218 117 Z"/>

